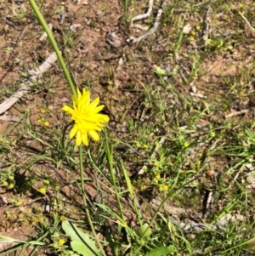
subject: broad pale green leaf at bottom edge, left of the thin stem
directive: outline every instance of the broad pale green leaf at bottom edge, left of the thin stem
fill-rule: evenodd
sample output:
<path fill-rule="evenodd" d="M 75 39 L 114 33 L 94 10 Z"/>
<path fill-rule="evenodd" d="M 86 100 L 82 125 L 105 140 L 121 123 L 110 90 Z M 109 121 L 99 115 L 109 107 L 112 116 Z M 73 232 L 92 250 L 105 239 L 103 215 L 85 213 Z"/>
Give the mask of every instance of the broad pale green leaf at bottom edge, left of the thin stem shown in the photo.
<path fill-rule="evenodd" d="M 74 251 L 84 256 L 100 255 L 100 250 L 95 246 L 95 242 L 76 225 L 65 220 L 62 222 L 62 229 L 65 230 L 67 236 L 71 237 L 71 248 Z"/>

